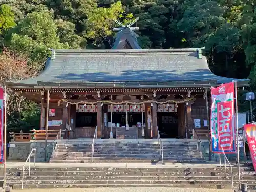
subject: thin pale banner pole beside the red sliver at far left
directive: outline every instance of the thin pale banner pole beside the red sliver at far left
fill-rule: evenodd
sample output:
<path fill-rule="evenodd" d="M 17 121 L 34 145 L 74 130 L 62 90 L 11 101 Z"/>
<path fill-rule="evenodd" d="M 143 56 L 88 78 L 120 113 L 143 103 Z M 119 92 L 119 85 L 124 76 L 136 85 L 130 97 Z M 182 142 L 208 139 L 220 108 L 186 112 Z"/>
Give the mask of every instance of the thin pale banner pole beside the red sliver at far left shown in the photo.
<path fill-rule="evenodd" d="M 6 86 L 4 86 L 4 192 L 6 191 Z"/>

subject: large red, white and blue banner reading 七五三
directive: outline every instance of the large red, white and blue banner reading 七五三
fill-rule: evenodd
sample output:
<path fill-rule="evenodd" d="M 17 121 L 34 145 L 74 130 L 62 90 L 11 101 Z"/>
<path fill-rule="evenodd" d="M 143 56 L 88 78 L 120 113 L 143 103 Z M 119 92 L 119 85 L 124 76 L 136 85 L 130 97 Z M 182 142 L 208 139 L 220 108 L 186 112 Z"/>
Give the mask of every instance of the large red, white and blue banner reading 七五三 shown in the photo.
<path fill-rule="evenodd" d="M 211 150 L 236 153 L 234 127 L 234 83 L 211 88 Z"/>

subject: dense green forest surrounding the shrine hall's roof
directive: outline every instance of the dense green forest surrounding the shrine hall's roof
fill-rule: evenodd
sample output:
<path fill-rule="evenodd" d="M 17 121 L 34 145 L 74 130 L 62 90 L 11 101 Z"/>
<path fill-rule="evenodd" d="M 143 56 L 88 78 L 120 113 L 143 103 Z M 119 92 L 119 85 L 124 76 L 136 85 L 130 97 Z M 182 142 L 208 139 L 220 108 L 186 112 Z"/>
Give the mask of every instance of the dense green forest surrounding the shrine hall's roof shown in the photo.
<path fill-rule="evenodd" d="M 256 91 L 255 0 L 2 0 L 0 84 L 38 75 L 49 48 L 111 49 L 114 20 L 136 17 L 143 49 L 205 47 L 216 75 L 251 78 L 239 91 L 239 111 L 249 110 L 245 93 Z M 8 93 L 9 130 L 38 129 L 39 106 Z"/>

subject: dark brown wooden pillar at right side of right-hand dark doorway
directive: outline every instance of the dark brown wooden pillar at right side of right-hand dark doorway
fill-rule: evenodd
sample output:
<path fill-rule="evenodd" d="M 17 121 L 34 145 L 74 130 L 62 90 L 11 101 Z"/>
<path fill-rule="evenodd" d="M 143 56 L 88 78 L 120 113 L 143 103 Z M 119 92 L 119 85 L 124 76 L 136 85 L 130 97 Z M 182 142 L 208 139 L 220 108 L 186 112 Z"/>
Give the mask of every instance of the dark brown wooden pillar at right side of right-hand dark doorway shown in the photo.
<path fill-rule="evenodd" d="M 186 121 L 185 121 L 185 104 L 178 104 L 178 136 L 179 138 L 186 137 Z"/>

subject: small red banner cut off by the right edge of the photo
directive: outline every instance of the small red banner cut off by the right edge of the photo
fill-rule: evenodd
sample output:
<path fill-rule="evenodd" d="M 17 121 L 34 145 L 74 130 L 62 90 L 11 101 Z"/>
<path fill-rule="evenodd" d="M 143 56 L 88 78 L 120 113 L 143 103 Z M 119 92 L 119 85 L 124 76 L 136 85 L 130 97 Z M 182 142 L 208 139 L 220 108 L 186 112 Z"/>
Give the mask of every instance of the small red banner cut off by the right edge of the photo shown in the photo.
<path fill-rule="evenodd" d="M 251 160 L 253 163 L 254 170 L 256 171 L 256 125 L 255 124 L 246 124 L 244 125 L 244 131 L 246 134 Z"/>

